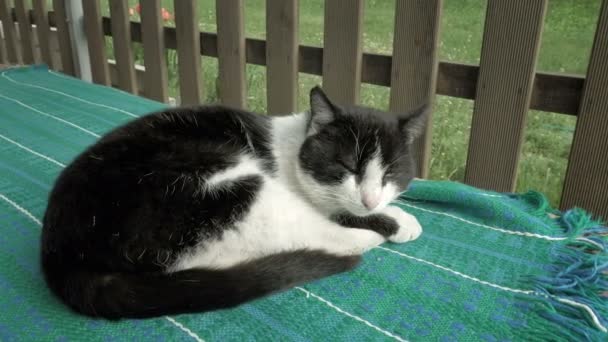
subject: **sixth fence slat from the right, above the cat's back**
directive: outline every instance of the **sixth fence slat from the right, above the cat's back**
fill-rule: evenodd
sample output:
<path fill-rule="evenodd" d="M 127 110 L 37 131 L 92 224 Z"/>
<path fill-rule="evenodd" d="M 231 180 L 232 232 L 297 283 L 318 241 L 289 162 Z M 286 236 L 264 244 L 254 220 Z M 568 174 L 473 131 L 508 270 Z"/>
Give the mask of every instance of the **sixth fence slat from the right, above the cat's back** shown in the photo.
<path fill-rule="evenodd" d="M 219 96 L 223 104 L 245 108 L 245 33 L 242 0 L 216 0 Z"/>

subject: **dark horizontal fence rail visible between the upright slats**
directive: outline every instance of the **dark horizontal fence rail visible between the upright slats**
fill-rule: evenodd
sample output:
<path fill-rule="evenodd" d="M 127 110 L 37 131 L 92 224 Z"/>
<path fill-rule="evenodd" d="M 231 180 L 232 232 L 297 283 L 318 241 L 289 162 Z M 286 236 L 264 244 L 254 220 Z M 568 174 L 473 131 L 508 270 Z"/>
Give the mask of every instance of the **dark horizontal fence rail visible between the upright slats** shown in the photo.
<path fill-rule="evenodd" d="M 52 18 L 52 16 L 51 16 Z M 104 17 L 104 33 L 110 36 L 110 18 Z M 141 42 L 141 25 L 131 23 L 133 41 Z M 165 46 L 175 49 L 176 31 L 165 27 Z M 201 32 L 201 55 L 217 58 L 217 35 Z M 323 48 L 300 45 L 299 71 L 305 74 L 323 74 Z M 255 38 L 245 40 L 246 60 L 249 64 L 266 65 L 266 41 Z M 363 53 L 361 82 L 390 86 L 392 58 L 388 55 Z M 479 66 L 455 62 L 439 62 L 437 94 L 463 99 L 475 99 Z M 585 79 L 580 75 L 537 72 L 530 108 L 546 112 L 577 115 L 580 95 Z"/>

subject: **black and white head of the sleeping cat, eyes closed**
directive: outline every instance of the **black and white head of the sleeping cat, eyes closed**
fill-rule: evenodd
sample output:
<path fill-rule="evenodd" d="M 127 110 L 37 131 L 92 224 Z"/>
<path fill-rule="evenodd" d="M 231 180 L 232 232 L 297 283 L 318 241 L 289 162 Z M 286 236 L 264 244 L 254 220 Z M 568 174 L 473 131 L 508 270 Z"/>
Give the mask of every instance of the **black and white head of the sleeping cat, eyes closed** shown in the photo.
<path fill-rule="evenodd" d="M 328 212 L 363 216 L 386 207 L 414 177 L 410 146 L 423 131 L 426 110 L 397 115 L 343 107 L 313 88 L 298 160 L 302 190 Z"/>

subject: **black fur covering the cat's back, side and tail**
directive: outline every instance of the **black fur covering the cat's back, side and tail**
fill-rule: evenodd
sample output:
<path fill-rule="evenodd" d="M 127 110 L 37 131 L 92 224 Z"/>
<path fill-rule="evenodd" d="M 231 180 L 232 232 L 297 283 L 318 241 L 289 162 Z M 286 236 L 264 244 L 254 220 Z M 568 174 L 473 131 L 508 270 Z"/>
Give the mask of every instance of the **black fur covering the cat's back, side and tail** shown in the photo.
<path fill-rule="evenodd" d="M 50 288 L 88 315 L 147 317 L 236 305 L 353 267 L 356 258 L 300 251 L 222 271 L 164 273 L 247 212 L 259 177 L 211 195 L 200 185 L 242 151 L 272 172 L 268 129 L 264 116 L 203 107 L 151 114 L 104 136 L 51 192 L 41 253 Z"/>

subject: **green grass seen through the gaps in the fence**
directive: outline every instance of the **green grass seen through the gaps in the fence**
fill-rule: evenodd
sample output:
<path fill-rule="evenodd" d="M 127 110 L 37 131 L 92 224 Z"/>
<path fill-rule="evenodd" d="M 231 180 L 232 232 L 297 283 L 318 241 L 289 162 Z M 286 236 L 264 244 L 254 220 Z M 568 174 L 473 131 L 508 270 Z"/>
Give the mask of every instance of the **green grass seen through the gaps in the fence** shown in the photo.
<path fill-rule="evenodd" d="M 134 5 L 137 1 L 130 0 Z M 163 5 L 173 12 L 173 1 Z M 584 74 L 593 42 L 600 0 L 551 0 L 542 36 L 538 69 Z M 245 27 L 248 37 L 265 38 L 265 1 L 245 0 Z M 392 52 L 395 0 L 365 1 L 364 51 Z M 485 20 L 484 0 L 445 0 L 440 58 L 455 62 L 479 63 Z M 216 32 L 215 1 L 199 1 L 200 28 Z M 168 23 L 171 24 L 171 23 Z M 301 44 L 322 46 L 323 1 L 300 2 Z M 141 58 L 138 59 L 141 61 Z M 179 97 L 177 71 L 170 66 L 170 93 Z M 206 101 L 217 100 L 217 60 L 203 58 Z M 266 75 L 264 67 L 247 66 L 247 106 L 265 112 Z M 300 74 L 299 108 L 307 107 L 308 90 L 321 83 L 318 76 Z M 361 103 L 381 109 L 388 107 L 389 89 L 362 85 Z M 462 181 L 473 102 L 437 96 L 433 118 L 430 163 L 432 179 Z M 566 163 L 576 120 L 567 115 L 530 111 L 519 165 L 517 191 L 534 189 L 545 193 L 553 205 L 559 203 Z"/>

